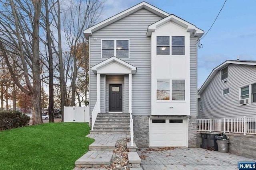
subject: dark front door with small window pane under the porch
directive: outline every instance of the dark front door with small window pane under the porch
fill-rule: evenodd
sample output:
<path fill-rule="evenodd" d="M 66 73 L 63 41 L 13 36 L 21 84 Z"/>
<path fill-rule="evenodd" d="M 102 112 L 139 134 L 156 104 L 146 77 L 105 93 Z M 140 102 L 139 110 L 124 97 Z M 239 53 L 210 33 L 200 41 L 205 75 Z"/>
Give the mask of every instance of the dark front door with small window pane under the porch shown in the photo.
<path fill-rule="evenodd" d="M 122 84 L 109 85 L 109 111 L 122 111 Z"/>

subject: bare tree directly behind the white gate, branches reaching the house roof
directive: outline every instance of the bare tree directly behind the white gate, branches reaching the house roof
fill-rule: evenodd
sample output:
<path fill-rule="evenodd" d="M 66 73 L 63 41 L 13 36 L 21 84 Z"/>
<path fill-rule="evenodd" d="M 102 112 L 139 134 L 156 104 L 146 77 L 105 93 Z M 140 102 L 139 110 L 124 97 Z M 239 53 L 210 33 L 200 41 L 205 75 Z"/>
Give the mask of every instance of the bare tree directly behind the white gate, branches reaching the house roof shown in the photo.
<path fill-rule="evenodd" d="M 78 65 L 78 44 L 84 41 L 82 34 L 86 27 L 94 25 L 102 16 L 104 0 L 78 0 L 72 1 L 64 12 L 63 26 L 68 51 L 73 60 L 71 106 L 75 106 L 76 79 L 80 65 Z"/>

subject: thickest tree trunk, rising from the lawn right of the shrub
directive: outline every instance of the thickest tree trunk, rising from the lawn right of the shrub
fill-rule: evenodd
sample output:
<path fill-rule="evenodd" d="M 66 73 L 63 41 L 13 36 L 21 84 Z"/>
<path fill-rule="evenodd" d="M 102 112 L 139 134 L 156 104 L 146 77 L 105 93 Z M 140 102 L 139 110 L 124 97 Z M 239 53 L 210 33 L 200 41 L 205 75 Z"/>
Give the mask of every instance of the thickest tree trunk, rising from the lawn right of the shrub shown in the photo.
<path fill-rule="evenodd" d="M 41 14 L 42 1 L 33 1 L 34 18 L 33 18 L 33 35 L 32 35 L 32 74 L 33 74 L 33 125 L 41 124 L 42 121 L 42 106 L 41 106 L 41 78 L 40 78 L 40 58 L 39 58 L 39 19 Z"/>

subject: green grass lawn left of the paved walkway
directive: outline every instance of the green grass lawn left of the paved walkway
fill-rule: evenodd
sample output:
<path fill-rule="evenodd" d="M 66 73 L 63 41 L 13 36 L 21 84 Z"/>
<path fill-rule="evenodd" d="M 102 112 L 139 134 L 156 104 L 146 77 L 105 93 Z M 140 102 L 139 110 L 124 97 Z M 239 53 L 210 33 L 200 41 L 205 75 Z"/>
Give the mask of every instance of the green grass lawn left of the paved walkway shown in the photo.
<path fill-rule="evenodd" d="M 88 123 L 45 123 L 0 131 L 0 170 L 72 170 L 94 139 Z"/>

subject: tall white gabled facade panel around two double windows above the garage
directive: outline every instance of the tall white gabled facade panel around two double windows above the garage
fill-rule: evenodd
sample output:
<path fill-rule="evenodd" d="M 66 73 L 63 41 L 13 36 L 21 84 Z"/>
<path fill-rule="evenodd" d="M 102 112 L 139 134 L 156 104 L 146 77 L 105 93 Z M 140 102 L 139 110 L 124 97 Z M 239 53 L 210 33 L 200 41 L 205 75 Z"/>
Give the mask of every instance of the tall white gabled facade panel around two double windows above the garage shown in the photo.
<path fill-rule="evenodd" d="M 156 55 L 158 36 L 170 37 L 170 55 Z M 184 55 L 172 55 L 172 36 L 184 36 Z M 172 21 L 151 36 L 151 114 L 190 115 L 190 33 Z M 157 100 L 157 80 L 170 80 L 169 100 Z M 185 100 L 172 99 L 172 80 L 185 80 Z"/>

